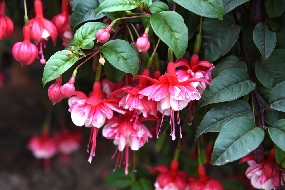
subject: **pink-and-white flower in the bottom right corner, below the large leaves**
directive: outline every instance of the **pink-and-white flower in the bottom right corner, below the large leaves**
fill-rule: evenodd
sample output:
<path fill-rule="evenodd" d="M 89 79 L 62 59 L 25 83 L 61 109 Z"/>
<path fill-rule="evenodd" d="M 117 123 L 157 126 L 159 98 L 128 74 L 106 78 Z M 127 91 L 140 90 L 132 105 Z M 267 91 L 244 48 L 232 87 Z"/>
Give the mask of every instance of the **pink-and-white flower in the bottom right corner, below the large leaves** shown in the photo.
<path fill-rule="evenodd" d="M 264 158 L 261 164 L 257 164 L 254 160 L 252 154 L 248 154 L 247 156 L 241 158 L 239 163 L 243 163 L 247 161 L 249 168 L 245 172 L 245 175 L 248 179 L 251 180 L 251 185 L 257 189 L 265 189 L 271 190 L 274 187 L 277 188 L 279 183 L 279 174 L 278 170 L 273 171 L 273 181 L 272 181 L 272 170 L 276 169 L 277 162 L 275 159 L 275 150 L 272 149 L 269 153 L 268 159 Z M 282 173 L 283 178 L 285 177 L 284 173 Z M 282 180 L 281 180 L 282 183 Z M 283 185 L 283 183 L 282 183 Z"/>

